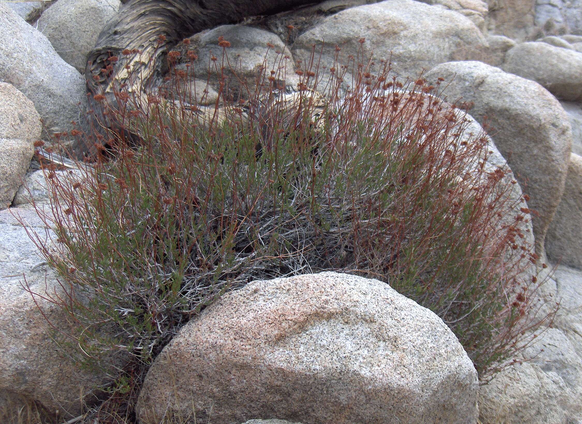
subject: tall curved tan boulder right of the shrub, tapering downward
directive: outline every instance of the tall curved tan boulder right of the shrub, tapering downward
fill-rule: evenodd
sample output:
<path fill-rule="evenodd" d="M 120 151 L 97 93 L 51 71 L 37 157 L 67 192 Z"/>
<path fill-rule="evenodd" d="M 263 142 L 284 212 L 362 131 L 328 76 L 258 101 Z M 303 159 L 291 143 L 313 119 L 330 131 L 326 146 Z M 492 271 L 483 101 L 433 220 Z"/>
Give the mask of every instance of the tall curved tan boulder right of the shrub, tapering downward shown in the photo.
<path fill-rule="evenodd" d="M 493 127 L 495 145 L 508 159 L 533 216 L 536 252 L 543 254 L 545 234 L 558 208 L 572 145 L 572 130 L 558 100 L 534 81 L 481 62 L 450 62 L 427 73 L 452 81 L 445 94 L 452 101 L 473 102 L 470 113 Z"/>

